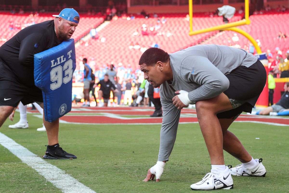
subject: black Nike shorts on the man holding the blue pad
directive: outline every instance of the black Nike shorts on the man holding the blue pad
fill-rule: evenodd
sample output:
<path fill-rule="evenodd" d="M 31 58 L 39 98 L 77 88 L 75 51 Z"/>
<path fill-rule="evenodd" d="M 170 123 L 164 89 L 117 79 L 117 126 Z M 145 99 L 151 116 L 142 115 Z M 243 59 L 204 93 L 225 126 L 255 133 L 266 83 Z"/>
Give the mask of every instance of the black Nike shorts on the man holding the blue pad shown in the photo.
<path fill-rule="evenodd" d="M 20 101 L 23 105 L 43 102 L 42 91 L 39 88 L 21 84 L 15 75 L 1 63 L 0 71 L 0 106 L 16 107 Z"/>

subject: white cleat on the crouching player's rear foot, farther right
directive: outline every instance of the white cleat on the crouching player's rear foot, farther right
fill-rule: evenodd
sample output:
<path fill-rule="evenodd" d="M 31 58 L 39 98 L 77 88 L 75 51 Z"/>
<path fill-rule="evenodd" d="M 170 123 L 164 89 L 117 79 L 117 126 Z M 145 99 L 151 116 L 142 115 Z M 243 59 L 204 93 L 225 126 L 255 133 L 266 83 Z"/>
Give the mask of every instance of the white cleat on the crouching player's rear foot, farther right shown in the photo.
<path fill-rule="evenodd" d="M 263 166 L 262 158 L 260 159 L 255 159 L 256 164 L 253 168 L 245 168 L 243 164 L 240 164 L 236 166 L 235 168 L 230 169 L 231 175 L 234 176 L 256 176 L 256 177 L 265 177 L 266 175 L 266 169 Z"/>

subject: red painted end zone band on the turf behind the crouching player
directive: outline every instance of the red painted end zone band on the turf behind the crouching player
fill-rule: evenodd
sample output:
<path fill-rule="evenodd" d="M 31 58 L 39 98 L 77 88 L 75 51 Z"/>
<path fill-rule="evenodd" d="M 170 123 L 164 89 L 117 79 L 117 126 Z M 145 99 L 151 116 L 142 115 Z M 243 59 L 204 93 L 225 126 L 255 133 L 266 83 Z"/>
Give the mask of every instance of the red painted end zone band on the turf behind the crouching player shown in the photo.
<path fill-rule="evenodd" d="M 84 110 L 84 111 L 81 111 Z M 91 108 L 75 108 L 66 116 L 61 117 L 61 120 L 73 123 L 92 123 L 92 124 L 160 124 L 162 123 L 162 117 L 149 117 L 153 114 L 154 108 L 142 108 L 142 107 L 91 107 Z M 77 113 L 78 115 L 73 115 Z M 81 115 L 81 114 L 89 115 Z M 101 115 L 108 113 L 108 115 Z M 100 115 L 97 115 L 100 114 Z M 197 122 L 195 109 L 183 109 L 181 114 L 186 114 L 192 117 L 181 117 L 180 123 Z M 121 115 L 131 115 L 132 118 L 121 117 Z M 144 117 L 133 117 L 133 115 L 144 115 Z M 265 117 L 265 116 L 252 116 L 242 114 L 236 121 L 248 121 L 248 122 L 264 122 L 273 124 L 285 124 L 289 125 L 289 118 L 282 117 Z"/>

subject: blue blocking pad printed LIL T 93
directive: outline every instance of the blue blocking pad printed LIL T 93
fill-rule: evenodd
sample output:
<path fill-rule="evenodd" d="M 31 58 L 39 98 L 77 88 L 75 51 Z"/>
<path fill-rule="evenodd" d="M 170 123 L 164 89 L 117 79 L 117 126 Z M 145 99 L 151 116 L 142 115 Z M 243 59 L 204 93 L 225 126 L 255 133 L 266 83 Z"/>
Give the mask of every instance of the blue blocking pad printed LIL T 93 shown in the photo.
<path fill-rule="evenodd" d="M 34 81 L 42 90 L 45 121 L 53 122 L 71 111 L 75 68 L 74 39 L 34 55 Z"/>

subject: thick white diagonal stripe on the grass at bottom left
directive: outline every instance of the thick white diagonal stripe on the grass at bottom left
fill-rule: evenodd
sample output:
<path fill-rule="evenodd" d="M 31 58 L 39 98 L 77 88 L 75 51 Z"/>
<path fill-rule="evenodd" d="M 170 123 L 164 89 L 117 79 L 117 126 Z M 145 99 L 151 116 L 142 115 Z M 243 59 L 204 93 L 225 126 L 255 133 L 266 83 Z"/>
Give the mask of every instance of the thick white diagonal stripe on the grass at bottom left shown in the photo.
<path fill-rule="evenodd" d="M 23 163 L 36 170 L 45 177 L 55 187 L 61 189 L 64 193 L 96 193 L 75 178 L 66 174 L 56 166 L 51 165 L 38 155 L 30 152 L 27 148 L 17 144 L 13 139 L 0 132 L 0 144 L 12 152 Z"/>

